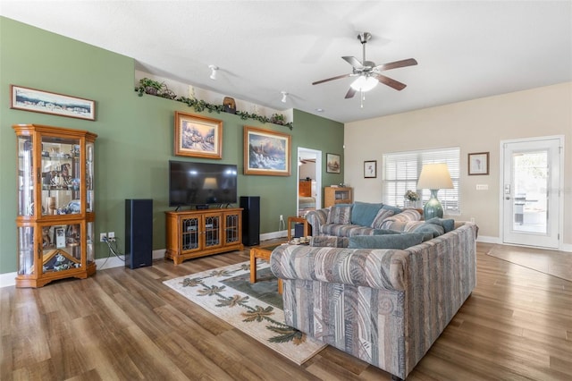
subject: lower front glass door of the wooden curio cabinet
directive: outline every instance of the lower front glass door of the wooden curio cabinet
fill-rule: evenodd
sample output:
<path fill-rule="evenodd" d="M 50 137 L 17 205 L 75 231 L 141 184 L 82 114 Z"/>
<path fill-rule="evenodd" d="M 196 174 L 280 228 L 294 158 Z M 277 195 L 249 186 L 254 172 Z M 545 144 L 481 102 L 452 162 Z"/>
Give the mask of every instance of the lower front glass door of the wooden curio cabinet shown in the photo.
<path fill-rule="evenodd" d="M 81 267 L 81 224 L 44 224 L 42 273 Z"/>

